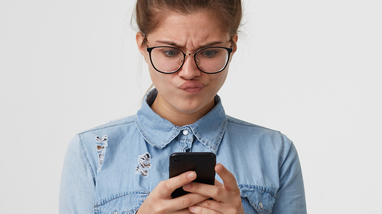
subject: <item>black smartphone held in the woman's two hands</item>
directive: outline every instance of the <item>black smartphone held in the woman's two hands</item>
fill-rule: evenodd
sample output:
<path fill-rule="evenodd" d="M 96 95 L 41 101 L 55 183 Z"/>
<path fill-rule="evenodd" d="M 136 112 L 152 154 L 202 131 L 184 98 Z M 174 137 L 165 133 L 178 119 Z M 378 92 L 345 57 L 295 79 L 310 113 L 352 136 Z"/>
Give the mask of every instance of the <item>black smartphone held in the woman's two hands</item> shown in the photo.
<path fill-rule="evenodd" d="M 196 179 L 193 182 L 215 184 L 216 156 L 212 152 L 177 152 L 170 155 L 169 178 L 175 177 L 186 171 L 195 171 Z M 189 192 L 183 188 L 171 193 L 172 198 L 185 195 Z"/>

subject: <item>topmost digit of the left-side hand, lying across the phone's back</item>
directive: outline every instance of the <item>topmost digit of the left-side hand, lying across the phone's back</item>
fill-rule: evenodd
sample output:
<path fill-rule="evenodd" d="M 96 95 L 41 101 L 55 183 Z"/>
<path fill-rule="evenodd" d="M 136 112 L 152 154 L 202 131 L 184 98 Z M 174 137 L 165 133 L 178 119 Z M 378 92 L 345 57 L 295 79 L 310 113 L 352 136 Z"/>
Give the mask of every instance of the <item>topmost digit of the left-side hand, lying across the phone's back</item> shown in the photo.
<path fill-rule="evenodd" d="M 168 180 L 161 181 L 158 184 L 159 192 L 163 195 L 170 195 L 174 190 L 190 183 L 196 178 L 195 171 L 187 171 Z"/>

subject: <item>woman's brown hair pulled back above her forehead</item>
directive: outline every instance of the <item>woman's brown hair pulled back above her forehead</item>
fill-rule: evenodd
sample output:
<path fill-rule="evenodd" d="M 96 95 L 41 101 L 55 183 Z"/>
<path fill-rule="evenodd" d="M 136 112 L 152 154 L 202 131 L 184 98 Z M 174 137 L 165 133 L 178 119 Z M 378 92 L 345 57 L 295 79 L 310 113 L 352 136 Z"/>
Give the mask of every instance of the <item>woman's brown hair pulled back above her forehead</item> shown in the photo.
<path fill-rule="evenodd" d="M 238 32 L 242 16 L 241 0 L 137 0 L 135 18 L 138 30 L 147 35 L 170 12 L 182 15 L 204 12 L 216 19 L 231 37 Z"/>

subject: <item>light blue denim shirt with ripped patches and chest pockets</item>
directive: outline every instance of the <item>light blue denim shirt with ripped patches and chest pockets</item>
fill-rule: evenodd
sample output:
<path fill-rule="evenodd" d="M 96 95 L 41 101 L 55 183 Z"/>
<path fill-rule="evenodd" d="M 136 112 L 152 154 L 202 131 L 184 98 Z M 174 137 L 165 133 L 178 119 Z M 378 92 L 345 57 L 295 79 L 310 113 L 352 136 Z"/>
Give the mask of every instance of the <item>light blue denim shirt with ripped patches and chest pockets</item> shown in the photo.
<path fill-rule="evenodd" d="M 77 134 L 62 171 L 61 214 L 133 214 L 162 180 L 173 152 L 211 151 L 237 180 L 246 214 L 306 214 L 297 151 L 279 131 L 227 116 L 220 98 L 191 125 L 178 127 L 151 108 Z M 216 175 L 216 179 L 221 179 Z"/>

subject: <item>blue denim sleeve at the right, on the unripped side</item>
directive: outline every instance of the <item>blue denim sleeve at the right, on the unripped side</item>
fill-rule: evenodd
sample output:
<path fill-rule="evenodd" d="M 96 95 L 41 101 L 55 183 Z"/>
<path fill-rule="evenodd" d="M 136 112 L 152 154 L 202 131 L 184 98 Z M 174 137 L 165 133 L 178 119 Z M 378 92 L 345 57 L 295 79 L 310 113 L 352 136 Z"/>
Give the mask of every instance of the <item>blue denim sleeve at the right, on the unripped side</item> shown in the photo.
<path fill-rule="evenodd" d="M 282 135 L 284 150 L 280 159 L 280 188 L 276 193 L 273 213 L 306 214 L 304 182 L 297 150 L 292 141 Z"/>

